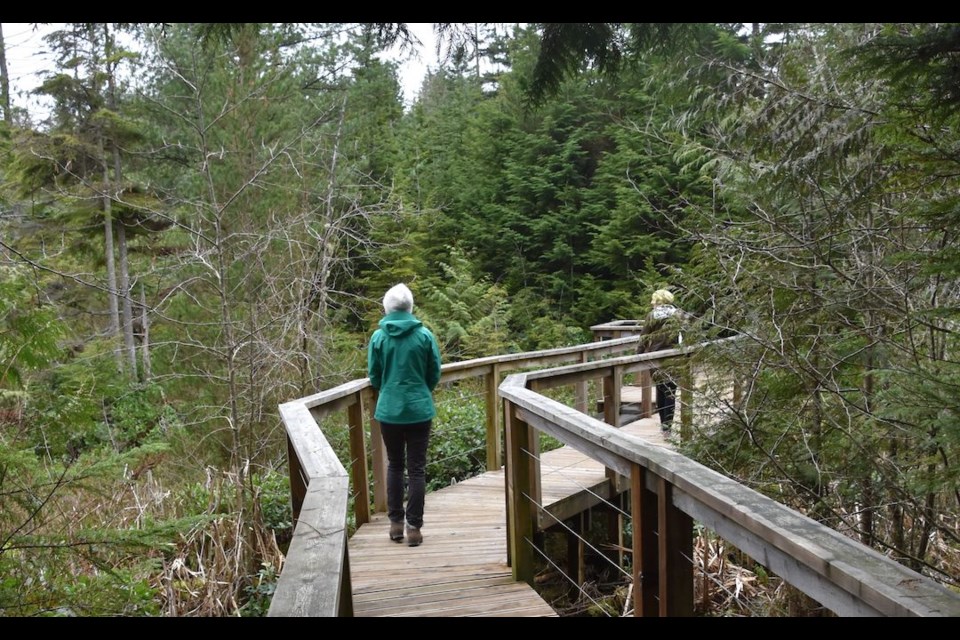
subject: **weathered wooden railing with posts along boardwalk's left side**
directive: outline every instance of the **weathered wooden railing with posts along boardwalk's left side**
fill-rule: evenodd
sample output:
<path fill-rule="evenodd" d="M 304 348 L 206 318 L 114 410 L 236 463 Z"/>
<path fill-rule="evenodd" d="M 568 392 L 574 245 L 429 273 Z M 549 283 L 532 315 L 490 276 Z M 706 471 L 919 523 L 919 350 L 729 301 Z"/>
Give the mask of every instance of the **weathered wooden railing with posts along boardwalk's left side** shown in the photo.
<path fill-rule="evenodd" d="M 586 362 L 632 352 L 636 338 L 593 342 L 574 347 L 508 354 L 443 365 L 440 384 L 468 378 L 483 380 L 486 395 L 487 469 L 502 465 L 502 413 L 497 386 L 520 369 Z M 586 384 L 576 404 L 586 410 Z M 287 458 L 293 509 L 293 538 L 271 601 L 270 616 L 350 616 L 347 535 L 350 491 L 357 527 L 374 511 L 386 510 L 386 453 L 380 425 L 373 418 L 375 391 L 366 378 L 280 405 L 287 433 Z M 609 406 L 612 406 L 609 405 Z M 320 430 L 320 423 L 346 412 L 350 431 L 350 470 L 343 467 Z M 367 429 L 369 425 L 369 449 Z M 373 495 L 367 481 L 373 475 Z"/>

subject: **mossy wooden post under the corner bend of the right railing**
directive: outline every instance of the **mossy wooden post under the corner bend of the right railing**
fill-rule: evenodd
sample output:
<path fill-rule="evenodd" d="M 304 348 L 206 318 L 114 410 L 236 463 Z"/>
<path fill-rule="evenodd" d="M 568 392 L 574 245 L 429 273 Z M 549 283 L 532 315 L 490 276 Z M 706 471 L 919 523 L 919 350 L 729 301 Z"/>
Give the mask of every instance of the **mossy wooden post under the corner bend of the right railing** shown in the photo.
<path fill-rule="evenodd" d="M 507 547 L 510 554 L 513 579 L 534 586 L 534 506 L 529 496 L 532 490 L 532 465 L 527 451 L 532 446 L 528 424 L 518 419 L 513 404 L 504 401 L 504 438 L 506 466 L 504 485 L 507 491 Z"/>

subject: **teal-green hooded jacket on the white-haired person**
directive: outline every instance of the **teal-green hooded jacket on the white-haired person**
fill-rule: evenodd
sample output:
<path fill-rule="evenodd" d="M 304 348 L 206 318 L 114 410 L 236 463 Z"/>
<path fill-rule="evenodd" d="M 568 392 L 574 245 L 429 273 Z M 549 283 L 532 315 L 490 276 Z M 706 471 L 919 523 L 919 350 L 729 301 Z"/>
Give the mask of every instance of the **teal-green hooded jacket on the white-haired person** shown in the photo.
<path fill-rule="evenodd" d="M 423 323 L 406 311 L 388 313 L 367 350 L 367 376 L 379 392 L 374 417 L 412 424 L 437 415 L 433 390 L 440 382 L 440 347 Z"/>

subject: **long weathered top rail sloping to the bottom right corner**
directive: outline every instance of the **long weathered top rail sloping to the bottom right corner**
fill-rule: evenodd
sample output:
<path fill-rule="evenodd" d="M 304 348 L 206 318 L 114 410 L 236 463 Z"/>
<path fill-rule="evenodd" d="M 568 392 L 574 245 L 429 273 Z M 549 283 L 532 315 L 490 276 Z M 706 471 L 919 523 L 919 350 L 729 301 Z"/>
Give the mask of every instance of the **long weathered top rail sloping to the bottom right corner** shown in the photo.
<path fill-rule="evenodd" d="M 848 611 L 837 600 L 842 590 L 880 615 L 960 615 L 960 595 L 936 581 L 693 460 L 538 396 L 525 384 L 524 374 L 508 376 L 500 394 L 526 423 L 624 475 L 632 463 L 648 469 L 675 495 L 690 498 L 675 501 L 690 517 L 703 522 L 711 513 L 724 516 L 724 538 L 734 546 L 760 538 L 762 549 L 753 552 L 759 562 L 781 554 L 793 558 L 803 570 L 783 566 L 778 575 L 827 607 L 836 602 L 838 613 Z M 819 580 L 805 578 L 813 575 Z"/>

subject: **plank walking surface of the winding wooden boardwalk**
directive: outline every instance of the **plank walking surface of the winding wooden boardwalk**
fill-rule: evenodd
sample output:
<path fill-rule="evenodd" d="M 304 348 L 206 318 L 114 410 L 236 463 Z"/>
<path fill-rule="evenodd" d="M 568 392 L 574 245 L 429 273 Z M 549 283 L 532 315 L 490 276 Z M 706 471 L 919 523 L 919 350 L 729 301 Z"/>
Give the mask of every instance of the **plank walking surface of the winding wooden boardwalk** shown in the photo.
<path fill-rule="evenodd" d="M 669 446 L 659 420 L 621 427 Z M 541 456 L 545 507 L 606 483 L 603 465 L 563 447 Z M 550 604 L 507 565 L 503 469 L 427 494 L 423 544 L 390 540 L 385 513 L 371 516 L 349 541 L 356 617 L 556 617 Z"/>

